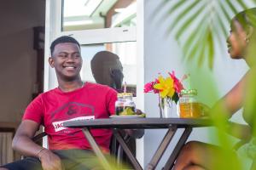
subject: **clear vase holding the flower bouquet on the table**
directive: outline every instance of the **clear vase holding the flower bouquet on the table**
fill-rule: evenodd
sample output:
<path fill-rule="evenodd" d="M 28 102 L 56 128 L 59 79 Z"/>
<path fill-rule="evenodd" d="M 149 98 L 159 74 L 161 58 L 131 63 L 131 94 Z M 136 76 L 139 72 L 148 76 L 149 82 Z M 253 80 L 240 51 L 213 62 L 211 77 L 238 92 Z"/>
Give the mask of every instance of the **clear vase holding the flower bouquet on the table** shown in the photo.
<path fill-rule="evenodd" d="M 168 117 L 177 117 L 176 105 L 172 100 L 168 100 L 167 98 L 160 98 L 160 118 L 168 118 Z"/>

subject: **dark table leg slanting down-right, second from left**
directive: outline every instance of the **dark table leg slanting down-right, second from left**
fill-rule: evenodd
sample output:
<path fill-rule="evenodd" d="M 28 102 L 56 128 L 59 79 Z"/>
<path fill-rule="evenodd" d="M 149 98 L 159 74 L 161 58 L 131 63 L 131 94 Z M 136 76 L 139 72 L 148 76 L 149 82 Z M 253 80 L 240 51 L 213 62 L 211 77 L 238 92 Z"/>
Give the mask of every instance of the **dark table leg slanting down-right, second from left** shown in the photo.
<path fill-rule="evenodd" d="M 143 167 L 141 167 L 141 165 L 137 161 L 136 157 L 133 156 L 133 154 L 131 153 L 131 150 L 128 148 L 127 144 L 125 144 L 125 140 L 121 137 L 121 135 L 119 134 L 119 131 L 117 129 L 113 129 L 113 135 L 119 141 L 119 144 L 121 144 L 123 150 L 125 151 L 126 155 L 130 159 L 132 166 L 136 170 L 143 170 Z"/>

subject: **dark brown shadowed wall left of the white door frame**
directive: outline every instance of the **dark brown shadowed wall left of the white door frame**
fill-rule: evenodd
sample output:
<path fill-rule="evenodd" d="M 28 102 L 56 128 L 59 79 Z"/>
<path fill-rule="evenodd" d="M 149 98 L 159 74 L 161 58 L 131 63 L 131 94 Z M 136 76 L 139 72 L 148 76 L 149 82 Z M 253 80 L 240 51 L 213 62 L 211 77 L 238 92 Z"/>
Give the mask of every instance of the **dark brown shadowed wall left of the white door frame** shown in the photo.
<path fill-rule="evenodd" d="M 0 1 L 0 122 L 20 122 L 36 81 L 34 26 L 44 26 L 44 0 Z"/>

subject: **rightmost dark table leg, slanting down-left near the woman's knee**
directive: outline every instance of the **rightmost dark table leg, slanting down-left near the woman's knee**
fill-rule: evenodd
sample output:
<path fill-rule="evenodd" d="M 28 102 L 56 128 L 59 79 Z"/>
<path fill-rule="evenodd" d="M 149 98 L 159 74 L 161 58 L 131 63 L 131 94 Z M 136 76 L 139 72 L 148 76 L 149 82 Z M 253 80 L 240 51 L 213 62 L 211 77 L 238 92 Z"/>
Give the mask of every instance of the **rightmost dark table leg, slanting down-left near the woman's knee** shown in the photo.
<path fill-rule="evenodd" d="M 182 136 L 180 137 L 180 139 L 178 140 L 176 146 L 174 147 L 174 149 L 172 151 L 172 155 L 169 157 L 168 161 L 166 161 L 166 165 L 163 168 L 163 170 L 172 169 L 172 167 L 174 165 L 174 161 L 176 160 L 179 151 L 182 149 L 183 144 L 185 144 L 185 142 L 189 138 L 189 134 L 191 133 L 191 131 L 192 131 L 191 127 L 186 127 L 185 128 L 185 130 L 183 131 Z"/>

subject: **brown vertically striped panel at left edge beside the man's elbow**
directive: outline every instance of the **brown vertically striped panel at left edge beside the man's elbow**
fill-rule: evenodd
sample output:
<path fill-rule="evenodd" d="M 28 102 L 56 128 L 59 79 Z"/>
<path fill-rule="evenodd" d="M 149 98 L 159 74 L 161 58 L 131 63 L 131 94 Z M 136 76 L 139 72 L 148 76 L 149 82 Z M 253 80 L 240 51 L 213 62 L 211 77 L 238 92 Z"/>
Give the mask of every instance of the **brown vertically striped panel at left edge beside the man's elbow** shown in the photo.
<path fill-rule="evenodd" d="M 14 151 L 12 150 L 11 132 L 0 132 L 0 165 L 14 161 Z"/>

